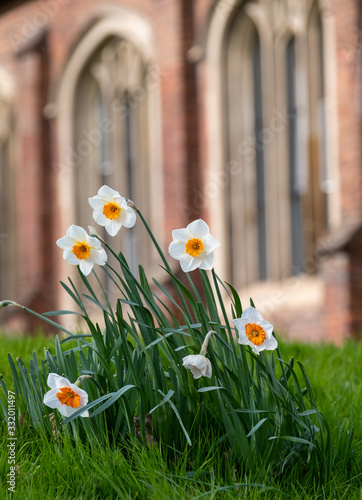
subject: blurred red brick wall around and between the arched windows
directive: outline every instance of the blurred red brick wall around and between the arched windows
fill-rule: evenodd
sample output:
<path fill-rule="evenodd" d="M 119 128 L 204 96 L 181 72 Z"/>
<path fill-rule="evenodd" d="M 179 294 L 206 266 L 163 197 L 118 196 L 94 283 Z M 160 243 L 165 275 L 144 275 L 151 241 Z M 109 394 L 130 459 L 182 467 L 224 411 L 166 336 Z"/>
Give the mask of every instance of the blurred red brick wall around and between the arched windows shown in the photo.
<path fill-rule="evenodd" d="M 162 156 L 165 201 L 165 247 L 173 228 L 202 216 L 200 189 L 205 181 L 207 134 L 206 73 L 202 61 L 213 0 L 29 0 L 0 6 L 0 65 L 16 82 L 16 205 L 19 283 L 17 297 L 37 310 L 57 307 L 60 233 L 55 199 L 56 173 L 49 167 L 59 157 L 58 123 L 42 109 L 55 100 L 72 50 L 99 16 L 114 8 L 130 9 L 147 20 L 155 42 L 161 95 Z M 331 0 L 336 36 L 339 166 L 342 220 L 361 218 L 361 4 Z M 360 243 L 330 255 L 320 265 L 324 306 L 305 316 L 300 335 L 315 330 L 339 342 L 362 330 Z M 167 248 L 166 248 L 167 249 Z M 362 309 L 361 309 L 362 310 Z M 8 312 L 7 312 L 8 314 Z M 290 319 L 280 318 L 288 329 Z M 0 322 L 4 319 L 0 312 Z M 317 318 L 317 319 L 316 319 Z M 8 318 L 13 325 L 34 327 L 30 318 Z M 20 322 L 19 322 L 20 321 Z M 26 324 L 24 323 L 26 321 Z M 289 325 L 289 326 L 288 326 Z M 306 336 L 308 329 L 310 335 Z M 294 333 L 293 333 L 294 335 Z M 297 335 L 297 334 L 296 334 Z M 299 333 L 298 333 L 299 335 Z M 323 337 L 323 335 L 322 335 Z"/>

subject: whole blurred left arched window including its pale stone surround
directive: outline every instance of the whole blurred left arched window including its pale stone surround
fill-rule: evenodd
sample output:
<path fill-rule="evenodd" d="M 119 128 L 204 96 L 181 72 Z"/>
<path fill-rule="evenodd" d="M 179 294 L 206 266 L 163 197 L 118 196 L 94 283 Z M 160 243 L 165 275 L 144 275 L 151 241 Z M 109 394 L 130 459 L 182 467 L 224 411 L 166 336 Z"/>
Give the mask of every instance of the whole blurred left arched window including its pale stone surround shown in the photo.
<path fill-rule="evenodd" d="M 162 244 L 159 92 L 150 25 L 134 11 L 109 8 L 81 37 L 65 65 L 57 98 L 59 155 L 54 163 L 62 233 L 71 224 L 96 226 L 115 251 L 125 254 L 134 272 L 142 264 L 153 274 L 159 259 L 142 222 L 138 219 L 133 229 L 121 228 L 111 238 L 93 221 L 88 198 L 106 184 L 132 199 Z M 76 274 L 62 262 L 61 279 L 70 275 L 75 280 Z M 112 283 L 106 285 L 112 292 Z M 69 307 L 66 295 L 60 305 Z"/>

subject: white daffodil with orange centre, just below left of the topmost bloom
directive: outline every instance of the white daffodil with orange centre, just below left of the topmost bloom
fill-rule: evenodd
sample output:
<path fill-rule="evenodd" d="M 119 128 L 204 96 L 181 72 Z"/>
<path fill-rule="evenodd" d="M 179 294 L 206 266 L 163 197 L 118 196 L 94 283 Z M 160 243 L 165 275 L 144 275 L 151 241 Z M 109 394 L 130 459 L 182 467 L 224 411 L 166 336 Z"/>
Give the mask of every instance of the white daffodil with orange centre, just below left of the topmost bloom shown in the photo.
<path fill-rule="evenodd" d="M 57 245 L 63 248 L 64 259 L 70 264 L 79 265 L 85 276 L 91 272 L 94 264 L 104 266 L 107 262 L 107 254 L 101 242 L 74 224 L 67 229 L 66 236 L 57 241 Z"/>

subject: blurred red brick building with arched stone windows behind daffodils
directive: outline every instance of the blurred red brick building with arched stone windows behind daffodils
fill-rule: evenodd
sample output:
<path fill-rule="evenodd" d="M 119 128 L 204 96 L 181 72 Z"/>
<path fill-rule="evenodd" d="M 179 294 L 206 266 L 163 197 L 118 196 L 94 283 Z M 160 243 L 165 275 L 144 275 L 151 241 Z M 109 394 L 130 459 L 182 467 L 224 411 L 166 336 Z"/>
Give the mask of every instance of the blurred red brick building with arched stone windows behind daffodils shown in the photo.
<path fill-rule="evenodd" d="M 217 273 L 279 331 L 358 336 L 361 28 L 360 0 L 3 0 L 0 299 L 67 306 L 55 241 L 107 184 L 166 251 L 207 220 Z M 114 244 L 159 274 L 141 224 Z"/>

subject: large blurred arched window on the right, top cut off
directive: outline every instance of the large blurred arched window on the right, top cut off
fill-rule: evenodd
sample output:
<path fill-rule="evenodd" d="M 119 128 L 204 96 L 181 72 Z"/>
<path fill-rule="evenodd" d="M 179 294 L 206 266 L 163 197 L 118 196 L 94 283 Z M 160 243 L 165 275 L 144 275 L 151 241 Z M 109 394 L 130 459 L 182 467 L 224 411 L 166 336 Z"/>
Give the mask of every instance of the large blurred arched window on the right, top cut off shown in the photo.
<path fill-rule="evenodd" d="M 315 271 L 317 239 L 338 226 L 335 95 L 324 75 L 333 78 L 333 44 L 323 43 L 333 32 L 317 1 L 219 4 L 205 50 L 205 198 L 227 241 L 217 266 L 241 288 Z"/>

